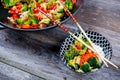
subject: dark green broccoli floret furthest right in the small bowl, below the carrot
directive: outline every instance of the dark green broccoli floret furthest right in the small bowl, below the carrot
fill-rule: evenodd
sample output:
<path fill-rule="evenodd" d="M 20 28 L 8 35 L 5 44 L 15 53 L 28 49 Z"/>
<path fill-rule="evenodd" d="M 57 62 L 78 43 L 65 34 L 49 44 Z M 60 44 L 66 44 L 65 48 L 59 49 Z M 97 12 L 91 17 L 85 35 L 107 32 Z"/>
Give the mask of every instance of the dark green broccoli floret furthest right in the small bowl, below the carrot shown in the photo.
<path fill-rule="evenodd" d="M 94 58 L 90 58 L 88 60 L 88 63 L 90 64 L 91 67 L 93 67 L 93 69 L 101 67 L 101 64 L 100 64 L 99 60 L 97 58 L 95 58 L 95 57 Z"/>

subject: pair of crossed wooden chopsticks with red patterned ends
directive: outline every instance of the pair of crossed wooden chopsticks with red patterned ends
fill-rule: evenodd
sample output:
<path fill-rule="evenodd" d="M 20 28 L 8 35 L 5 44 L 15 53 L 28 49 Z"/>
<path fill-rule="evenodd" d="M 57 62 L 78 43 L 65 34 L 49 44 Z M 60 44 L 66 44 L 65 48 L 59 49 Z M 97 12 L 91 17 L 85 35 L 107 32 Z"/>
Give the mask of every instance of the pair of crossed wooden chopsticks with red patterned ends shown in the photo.
<path fill-rule="evenodd" d="M 72 15 L 72 13 L 67 9 L 67 7 L 64 5 L 64 3 L 62 1 L 60 1 L 61 4 L 64 6 L 64 10 L 68 13 L 68 16 L 70 16 L 73 21 L 76 23 L 76 25 L 79 27 L 79 29 L 81 30 L 81 32 L 83 33 L 83 35 L 86 37 L 86 39 L 89 41 L 89 43 L 91 44 L 91 46 L 87 45 L 84 41 L 82 41 L 81 39 L 79 39 L 77 36 L 75 36 L 70 30 L 68 30 L 65 26 L 61 25 L 60 22 L 55 21 L 51 16 L 49 16 L 47 13 L 45 13 L 44 11 L 40 10 L 39 11 L 44 14 L 45 16 L 47 16 L 48 18 L 50 18 L 54 23 L 56 23 L 61 29 L 63 29 L 65 32 L 69 33 L 70 35 L 72 35 L 76 40 L 78 40 L 79 42 L 81 42 L 83 45 L 85 45 L 86 47 L 88 47 L 90 50 L 92 50 L 93 52 L 95 52 L 97 55 L 99 55 L 99 57 L 101 58 L 101 60 L 104 62 L 104 64 L 108 67 L 108 64 L 111 64 L 112 66 L 114 66 L 115 68 L 118 68 L 118 66 L 116 66 L 115 64 L 113 64 L 112 62 L 110 62 L 109 60 L 107 60 L 103 55 L 101 55 L 99 53 L 99 51 L 96 49 L 96 47 L 94 46 L 94 44 L 92 43 L 92 41 L 90 40 L 90 38 L 87 36 L 87 34 L 85 33 L 85 31 L 83 30 L 83 28 L 80 26 L 79 22 L 76 20 L 76 18 Z"/>

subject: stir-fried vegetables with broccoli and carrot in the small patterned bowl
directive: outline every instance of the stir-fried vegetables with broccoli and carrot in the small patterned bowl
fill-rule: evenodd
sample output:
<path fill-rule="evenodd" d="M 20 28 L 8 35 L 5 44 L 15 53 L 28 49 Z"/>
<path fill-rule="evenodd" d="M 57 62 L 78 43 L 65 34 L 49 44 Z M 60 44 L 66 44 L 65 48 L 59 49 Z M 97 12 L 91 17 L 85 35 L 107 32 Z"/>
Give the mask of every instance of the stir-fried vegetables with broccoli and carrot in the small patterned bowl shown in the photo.
<path fill-rule="evenodd" d="M 82 34 L 79 35 L 79 38 L 90 45 Z M 90 72 L 92 69 L 101 67 L 98 56 L 77 40 L 69 47 L 64 56 L 67 65 L 76 71 Z"/>

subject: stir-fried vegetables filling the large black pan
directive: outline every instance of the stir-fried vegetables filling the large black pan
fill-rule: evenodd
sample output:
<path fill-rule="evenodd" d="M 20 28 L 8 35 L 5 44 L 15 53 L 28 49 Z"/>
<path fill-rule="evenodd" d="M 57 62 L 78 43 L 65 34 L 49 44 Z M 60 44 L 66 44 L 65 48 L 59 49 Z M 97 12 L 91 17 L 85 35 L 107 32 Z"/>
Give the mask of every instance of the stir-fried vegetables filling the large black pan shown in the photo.
<path fill-rule="evenodd" d="M 1 0 L 10 13 L 9 21 L 20 29 L 39 29 L 54 25 L 40 10 L 60 22 L 65 17 L 61 1 L 69 10 L 76 3 L 76 0 Z"/>

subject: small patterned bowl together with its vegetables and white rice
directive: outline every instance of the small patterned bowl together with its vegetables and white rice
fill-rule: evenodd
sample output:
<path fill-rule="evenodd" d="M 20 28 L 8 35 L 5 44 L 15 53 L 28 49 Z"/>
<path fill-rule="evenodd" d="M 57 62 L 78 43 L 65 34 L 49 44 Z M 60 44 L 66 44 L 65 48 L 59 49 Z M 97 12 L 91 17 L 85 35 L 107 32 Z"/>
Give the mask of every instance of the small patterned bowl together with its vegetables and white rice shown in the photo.
<path fill-rule="evenodd" d="M 87 31 L 86 33 L 93 41 L 100 54 L 110 59 L 112 48 L 108 40 L 96 32 Z M 86 44 L 90 45 L 88 40 L 80 32 L 75 33 L 75 35 Z M 60 56 L 64 63 L 76 72 L 93 72 L 103 67 L 103 62 L 100 57 L 85 45 L 75 40 L 72 36 L 67 37 L 63 42 L 60 49 Z"/>

